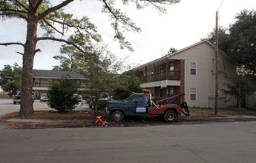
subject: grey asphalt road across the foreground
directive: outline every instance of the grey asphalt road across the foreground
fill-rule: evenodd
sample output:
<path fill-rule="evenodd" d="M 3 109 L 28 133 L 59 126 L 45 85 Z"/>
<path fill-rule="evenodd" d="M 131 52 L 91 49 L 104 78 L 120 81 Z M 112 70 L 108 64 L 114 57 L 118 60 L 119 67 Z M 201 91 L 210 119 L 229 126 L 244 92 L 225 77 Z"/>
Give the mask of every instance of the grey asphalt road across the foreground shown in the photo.
<path fill-rule="evenodd" d="M 1 162 L 255 162 L 256 122 L 0 130 Z"/>

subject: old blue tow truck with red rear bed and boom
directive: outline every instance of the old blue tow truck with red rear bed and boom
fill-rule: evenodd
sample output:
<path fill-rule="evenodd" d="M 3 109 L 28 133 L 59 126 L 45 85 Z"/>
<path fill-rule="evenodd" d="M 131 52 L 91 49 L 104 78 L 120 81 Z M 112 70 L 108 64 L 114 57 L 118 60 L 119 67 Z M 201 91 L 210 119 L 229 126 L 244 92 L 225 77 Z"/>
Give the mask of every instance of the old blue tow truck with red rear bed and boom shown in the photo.
<path fill-rule="evenodd" d="M 109 101 L 107 112 L 110 113 L 112 121 L 122 122 L 125 116 L 158 115 L 163 116 L 165 122 L 176 122 L 181 113 L 189 116 L 186 102 L 180 105 L 166 103 L 184 94 L 154 103 L 151 100 L 151 91 L 143 90 L 143 92 L 144 93 L 132 93 L 127 99 Z M 183 109 L 185 109 L 186 112 L 184 112 Z"/>

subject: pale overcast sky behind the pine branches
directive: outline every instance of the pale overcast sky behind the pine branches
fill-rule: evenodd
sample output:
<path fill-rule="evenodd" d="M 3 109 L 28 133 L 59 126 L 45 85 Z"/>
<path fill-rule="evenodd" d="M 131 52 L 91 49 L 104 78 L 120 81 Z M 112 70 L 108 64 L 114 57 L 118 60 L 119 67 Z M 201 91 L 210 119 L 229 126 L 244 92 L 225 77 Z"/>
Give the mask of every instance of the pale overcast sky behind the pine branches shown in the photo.
<path fill-rule="evenodd" d="M 53 1 L 53 0 L 51 0 Z M 57 3 L 59 1 L 54 1 Z M 179 4 L 165 6 L 167 14 L 161 14 L 154 7 L 136 10 L 134 5 L 119 6 L 141 27 L 140 33 L 128 32 L 125 37 L 131 42 L 134 52 L 119 49 L 114 41 L 114 30 L 111 28 L 108 15 L 102 13 L 102 3 L 96 0 L 75 0 L 64 7 L 65 12 L 74 17 L 88 16 L 96 25 L 109 50 L 119 59 L 128 56 L 127 64 L 140 65 L 153 61 L 167 54 L 171 47 L 177 50 L 195 44 L 214 30 L 218 10 L 219 26 L 228 28 L 234 24 L 234 16 L 240 11 L 256 10 L 255 0 L 182 0 Z M 18 41 L 24 43 L 26 23 L 18 19 L 0 20 L 0 42 Z M 40 33 L 39 33 L 40 35 Z M 33 68 L 52 70 L 59 61 L 53 56 L 60 55 L 61 44 L 53 41 L 39 41 L 37 47 L 42 52 L 36 53 Z M 22 66 L 23 48 L 21 46 L 0 46 L 0 70 L 4 65 L 15 62 Z"/>

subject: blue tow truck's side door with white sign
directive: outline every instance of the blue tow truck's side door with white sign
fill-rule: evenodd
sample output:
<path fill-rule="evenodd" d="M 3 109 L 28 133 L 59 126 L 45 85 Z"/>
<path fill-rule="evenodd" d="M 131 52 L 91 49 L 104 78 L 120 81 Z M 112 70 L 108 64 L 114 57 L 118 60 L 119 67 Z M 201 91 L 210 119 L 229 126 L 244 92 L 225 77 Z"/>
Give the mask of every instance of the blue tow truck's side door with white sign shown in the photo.
<path fill-rule="evenodd" d="M 145 96 L 134 96 L 134 99 L 131 102 L 131 114 L 143 114 L 147 113 L 147 104 Z"/>

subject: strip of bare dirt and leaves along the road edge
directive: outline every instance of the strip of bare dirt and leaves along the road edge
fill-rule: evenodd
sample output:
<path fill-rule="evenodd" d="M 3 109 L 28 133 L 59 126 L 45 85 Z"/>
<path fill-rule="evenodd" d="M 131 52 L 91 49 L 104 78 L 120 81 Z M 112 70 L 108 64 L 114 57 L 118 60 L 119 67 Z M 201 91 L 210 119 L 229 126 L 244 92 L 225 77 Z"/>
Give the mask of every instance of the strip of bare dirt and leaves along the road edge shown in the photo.
<path fill-rule="evenodd" d="M 55 127 L 102 127 L 96 125 L 96 117 L 102 116 L 108 125 L 104 127 L 140 127 L 175 124 L 203 124 L 211 122 L 246 122 L 256 121 L 256 112 L 253 110 L 237 109 L 219 110 L 219 115 L 214 115 L 211 109 L 190 109 L 191 116 L 181 115 L 174 123 L 166 123 L 159 116 L 128 116 L 121 123 L 111 121 L 111 116 L 105 110 L 93 111 L 35 111 L 29 118 L 19 117 L 18 112 L 0 117 L 0 123 L 11 129 L 39 129 Z"/>

